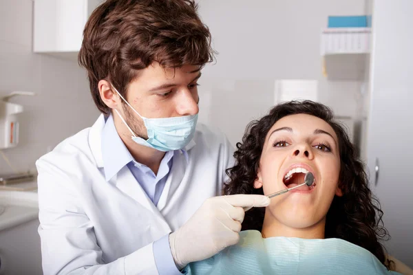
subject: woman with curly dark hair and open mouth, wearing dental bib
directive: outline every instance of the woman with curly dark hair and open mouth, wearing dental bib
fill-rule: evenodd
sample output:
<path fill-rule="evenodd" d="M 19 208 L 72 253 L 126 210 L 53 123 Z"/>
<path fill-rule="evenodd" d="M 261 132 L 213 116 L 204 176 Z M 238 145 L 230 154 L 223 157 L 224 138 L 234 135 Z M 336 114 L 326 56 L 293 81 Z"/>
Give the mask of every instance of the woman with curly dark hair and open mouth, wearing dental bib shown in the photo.
<path fill-rule="evenodd" d="M 304 183 L 308 172 L 315 181 L 273 197 L 266 209 L 248 210 L 240 242 L 191 263 L 187 274 L 388 274 L 396 268 L 379 243 L 388 237 L 383 212 L 328 107 L 279 104 L 248 125 L 235 158 L 226 195 L 270 195 Z"/>

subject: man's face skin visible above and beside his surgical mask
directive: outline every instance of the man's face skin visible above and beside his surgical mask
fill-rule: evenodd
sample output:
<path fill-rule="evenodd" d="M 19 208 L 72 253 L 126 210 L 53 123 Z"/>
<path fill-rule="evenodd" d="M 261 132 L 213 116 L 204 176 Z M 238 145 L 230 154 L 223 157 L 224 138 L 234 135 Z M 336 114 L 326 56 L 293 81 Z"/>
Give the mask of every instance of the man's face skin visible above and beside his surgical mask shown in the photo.
<path fill-rule="evenodd" d="M 199 111 L 199 69 L 200 67 L 195 65 L 172 69 L 153 63 L 142 69 L 138 77 L 128 85 L 125 99 L 145 118 L 195 115 Z M 118 105 L 118 110 L 131 130 L 146 140 L 147 130 L 139 115 L 120 99 Z M 130 136 L 129 131 L 125 133 Z"/>

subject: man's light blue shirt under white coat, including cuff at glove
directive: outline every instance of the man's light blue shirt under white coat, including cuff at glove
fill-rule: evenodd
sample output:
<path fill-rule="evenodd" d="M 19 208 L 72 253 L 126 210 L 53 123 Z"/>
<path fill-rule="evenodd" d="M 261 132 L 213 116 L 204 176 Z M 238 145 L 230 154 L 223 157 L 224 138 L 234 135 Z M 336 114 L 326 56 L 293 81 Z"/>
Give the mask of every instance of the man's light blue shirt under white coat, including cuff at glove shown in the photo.
<path fill-rule="evenodd" d="M 116 131 L 112 115 L 106 118 L 102 132 L 102 157 L 107 181 L 112 179 L 120 169 L 127 166 L 134 175 L 137 181 L 136 184 L 140 184 L 153 204 L 157 205 L 171 170 L 175 153 L 180 152 L 168 151 L 165 153 L 160 162 L 158 174 L 155 175 L 151 168 L 136 162 L 131 153 L 129 153 L 120 139 L 118 131 Z M 184 153 L 188 160 L 187 151 L 182 150 L 182 153 Z M 169 234 L 153 243 L 153 256 L 155 257 L 156 267 L 160 275 L 181 274 L 172 258 L 171 248 L 169 247 Z"/>

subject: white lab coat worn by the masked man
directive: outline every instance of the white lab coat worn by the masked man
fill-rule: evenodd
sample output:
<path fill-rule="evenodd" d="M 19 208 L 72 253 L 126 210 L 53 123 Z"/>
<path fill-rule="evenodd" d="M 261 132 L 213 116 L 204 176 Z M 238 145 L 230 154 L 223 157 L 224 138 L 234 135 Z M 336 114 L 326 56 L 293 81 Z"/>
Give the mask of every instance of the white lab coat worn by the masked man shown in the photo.
<path fill-rule="evenodd" d="M 41 157 L 39 234 L 44 274 L 158 274 L 152 243 L 180 228 L 205 199 L 220 195 L 233 148 L 202 124 L 173 166 L 158 206 L 129 168 L 105 180 L 105 120 Z"/>

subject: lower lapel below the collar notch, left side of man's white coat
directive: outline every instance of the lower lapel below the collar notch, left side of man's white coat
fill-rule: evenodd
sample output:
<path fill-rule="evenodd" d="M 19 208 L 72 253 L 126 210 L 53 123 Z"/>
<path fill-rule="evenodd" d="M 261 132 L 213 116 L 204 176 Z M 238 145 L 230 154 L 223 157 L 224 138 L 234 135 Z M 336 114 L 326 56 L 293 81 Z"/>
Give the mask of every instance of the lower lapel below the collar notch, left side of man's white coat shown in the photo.
<path fill-rule="evenodd" d="M 140 203 L 143 207 L 147 208 L 147 210 L 152 212 L 156 221 L 158 221 L 158 225 L 160 226 L 160 228 L 158 228 L 159 230 L 162 230 L 164 234 L 171 232 L 171 228 L 169 227 L 167 221 L 159 212 L 158 208 L 156 208 L 156 206 L 153 204 L 151 199 L 149 199 L 145 190 L 142 189 L 127 166 L 120 169 L 115 178 L 116 187 L 118 187 L 119 190 L 121 190 L 126 195 Z"/>

